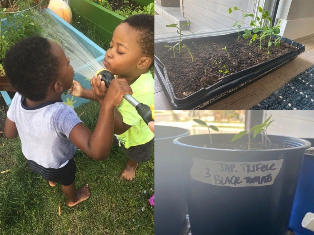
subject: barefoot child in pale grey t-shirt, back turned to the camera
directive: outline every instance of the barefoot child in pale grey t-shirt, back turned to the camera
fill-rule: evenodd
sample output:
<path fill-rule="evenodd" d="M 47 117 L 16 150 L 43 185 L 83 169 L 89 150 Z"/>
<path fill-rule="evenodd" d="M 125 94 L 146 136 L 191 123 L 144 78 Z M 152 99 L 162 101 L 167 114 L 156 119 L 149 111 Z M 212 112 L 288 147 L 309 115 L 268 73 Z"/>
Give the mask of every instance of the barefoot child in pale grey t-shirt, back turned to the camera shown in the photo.
<path fill-rule="evenodd" d="M 68 206 L 86 200 L 88 184 L 75 189 L 73 154 L 79 148 L 93 159 L 106 159 L 112 146 L 114 107 L 126 93 L 132 93 L 127 81 L 111 83 L 91 132 L 61 100 L 72 86 L 73 68 L 57 43 L 39 36 L 22 39 L 7 51 L 4 69 L 17 90 L 8 109 L 5 136 L 19 135 L 31 170 L 50 186 L 60 183 Z"/>

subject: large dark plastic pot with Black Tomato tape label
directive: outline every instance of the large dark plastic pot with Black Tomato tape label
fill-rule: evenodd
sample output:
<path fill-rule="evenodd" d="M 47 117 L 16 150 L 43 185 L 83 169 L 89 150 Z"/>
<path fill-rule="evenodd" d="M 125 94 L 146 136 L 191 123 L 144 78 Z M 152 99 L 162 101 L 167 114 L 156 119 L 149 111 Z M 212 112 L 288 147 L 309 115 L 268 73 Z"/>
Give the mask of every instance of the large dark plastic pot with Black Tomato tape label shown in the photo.
<path fill-rule="evenodd" d="M 213 134 L 213 143 L 234 134 Z M 208 135 L 176 138 L 193 235 L 286 235 L 304 152 L 311 143 L 268 135 L 292 148 L 201 147 Z M 261 138 L 260 136 L 256 137 Z M 243 139 L 243 140 L 242 140 Z M 247 143 L 247 138 L 236 140 Z"/>

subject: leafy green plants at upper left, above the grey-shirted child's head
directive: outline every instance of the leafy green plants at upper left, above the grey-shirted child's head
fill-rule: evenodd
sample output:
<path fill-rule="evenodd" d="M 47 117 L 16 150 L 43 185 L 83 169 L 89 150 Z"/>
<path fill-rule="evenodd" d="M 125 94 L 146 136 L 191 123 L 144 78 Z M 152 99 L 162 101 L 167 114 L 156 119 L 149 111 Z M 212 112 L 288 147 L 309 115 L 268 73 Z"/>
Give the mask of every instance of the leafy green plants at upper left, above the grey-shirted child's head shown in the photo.
<path fill-rule="evenodd" d="M 36 11 L 27 10 L 19 14 L 5 13 L 7 8 L 0 12 L 0 63 L 10 46 L 20 39 L 40 34 L 41 26 L 35 19 Z M 8 24 L 2 21 L 7 20 Z"/>

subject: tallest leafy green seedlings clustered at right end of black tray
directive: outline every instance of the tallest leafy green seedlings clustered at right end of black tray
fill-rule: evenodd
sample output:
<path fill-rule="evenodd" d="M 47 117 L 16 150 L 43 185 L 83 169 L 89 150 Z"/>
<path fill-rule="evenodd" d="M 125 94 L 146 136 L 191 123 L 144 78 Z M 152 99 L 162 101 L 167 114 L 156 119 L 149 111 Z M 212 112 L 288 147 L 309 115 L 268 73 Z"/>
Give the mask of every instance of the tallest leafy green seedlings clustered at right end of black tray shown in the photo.
<path fill-rule="evenodd" d="M 234 7 L 234 10 L 240 10 L 237 7 Z M 242 10 L 240 10 L 242 11 Z M 261 17 L 256 16 L 255 20 L 252 20 L 250 25 L 254 26 L 256 28 L 254 28 L 252 31 L 249 29 L 244 29 L 244 34 L 242 35 L 242 37 L 244 39 L 247 39 L 249 37 L 252 37 L 249 45 L 252 45 L 252 43 L 256 40 L 259 39 L 259 47 L 260 49 L 262 49 L 262 41 L 264 39 L 266 39 L 269 36 L 269 40 L 268 40 L 268 44 L 267 44 L 267 54 L 269 55 L 269 47 L 272 46 L 273 44 L 275 46 L 280 46 L 280 36 L 278 36 L 278 34 L 280 34 L 280 23 L 281 20 L 278 21 L 278 23 L 273 26 L 272 24 L 272 17 L 270 16 L 270 12 L 268 10 L 264 11 L 263 8 L 258 7 L 258 11 L 261 13 Z M 242 11 L 243 12 L 243 11 Z M 229 8 L 229 13 L 232 13 L 232 9 Z M 254 17 L 254 15 L 252 13 L 244 13 L 243 12 L 243 17 L 242 17 L 242 21 L 241 24 L 243 23 L 243 19 L 244 17 Z M 240 37 L 240 28 L 241 28 L 241 24 L 237 24 L 236 23 L 233 25 L 233 27 L 235 25 L 238 26 L 239 28 L 239 36 L 238 39 Z M 257 34 L 259 34 L 259 36 L 257 36 Z M 271 41 L 272 37 L 276 37 L 276 39 L 274 41 Z"/>

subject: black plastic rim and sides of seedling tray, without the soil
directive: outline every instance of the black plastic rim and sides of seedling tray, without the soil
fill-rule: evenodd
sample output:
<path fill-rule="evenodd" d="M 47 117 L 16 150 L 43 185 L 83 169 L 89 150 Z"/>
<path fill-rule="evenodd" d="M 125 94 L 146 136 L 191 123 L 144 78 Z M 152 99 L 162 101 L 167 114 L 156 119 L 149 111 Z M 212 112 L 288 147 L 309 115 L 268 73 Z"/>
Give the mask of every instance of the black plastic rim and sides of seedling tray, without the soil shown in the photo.
<path fill-rule="evenodd" d="M 219 36 L 208 36 L 208 35 L 193 35 L 188 36 L 182 40 L 183 43 L 189 42 L 197 42 L 198 40 L 215 40 L 221 38 L 227 38 L 238 35 L 238 33 L 231 33 Z M 290 51 L 284 55 L 268 60 L 264 63 L 255 65 L 251 68 L 247 68 L 236 72 L 234 74 L 225 76 L 222 80 L 217 83 L 207 87 L 202 88 L 199 91 L 185 97 L 185 98 L 177 98 L 173 91 L 172 84 L 169 80 L 167 69 L 165 65 L 160 61 L 160 59 L 155 55 L 155 73 L 162 86 L 165 95 L 172 107 L 172 109 L 176 110 L 197 110 L 208 107 L 215 102 L 228 97 L 236 91 L 244 88 L 248 84 L 260 79 L 261 77 L 273 72 L 273 70 L 279 68 L 285 63 L 295 59 L 300 53 L 305 51 L 305 46 L 294 42 L 293 40 L 287 39 L 285 37 L 281 37 L 282 42 L 288 43 L 292 46 L 295 46 L 297 49 L 295 51 Z M 165 41 L 155 42 L 155 51 L 164 50 L 164 45 L 174 45 L 174 43 L 170 43 L 165 39 Z"/>

